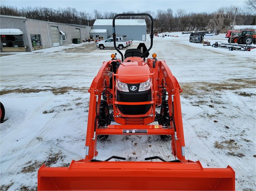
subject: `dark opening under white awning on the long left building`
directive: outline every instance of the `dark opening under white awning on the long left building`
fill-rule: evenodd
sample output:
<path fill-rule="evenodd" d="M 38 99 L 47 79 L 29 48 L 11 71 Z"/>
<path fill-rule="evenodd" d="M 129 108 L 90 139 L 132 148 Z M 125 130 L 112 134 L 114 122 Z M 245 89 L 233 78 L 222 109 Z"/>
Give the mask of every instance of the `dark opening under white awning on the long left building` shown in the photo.
<path fill-rule="evenodd" d="M 3 47 L 24 47 L 23 36 L 20 35 L 1 35 Z"/>

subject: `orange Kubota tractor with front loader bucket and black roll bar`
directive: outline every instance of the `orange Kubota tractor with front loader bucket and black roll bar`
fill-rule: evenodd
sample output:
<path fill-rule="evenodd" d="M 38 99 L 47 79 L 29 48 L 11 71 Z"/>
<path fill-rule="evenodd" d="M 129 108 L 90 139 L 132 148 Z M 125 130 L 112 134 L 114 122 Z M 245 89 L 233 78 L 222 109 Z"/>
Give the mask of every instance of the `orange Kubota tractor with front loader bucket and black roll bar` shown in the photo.
<path fill-rule="evenodd" d="M 123 55 L 116 48 L 115 19 L 119 16 L 150 17 L 148 50 L 128 49 Z M 85 159 L 73 160 L 69 167 L 43 165 L 38 170 L 38 190 L 235 190 L 231 167 L 203 168 L 199 161 L 185 158 L 182 89 L 165 61 L 158 60 L 156 54 L 146 59 L 153 36 L 151 15 L 118 14 L 113 18 L 114 46 L 121 59 L 112 54 L 90 86 Z M 152 156 L 146 161 L 121 161 L 125 158 L 112 156 L 98 160 L 97 137 L 103 140 L 108 135 L 161 135 L 169 139 L 175 159 Z"/>

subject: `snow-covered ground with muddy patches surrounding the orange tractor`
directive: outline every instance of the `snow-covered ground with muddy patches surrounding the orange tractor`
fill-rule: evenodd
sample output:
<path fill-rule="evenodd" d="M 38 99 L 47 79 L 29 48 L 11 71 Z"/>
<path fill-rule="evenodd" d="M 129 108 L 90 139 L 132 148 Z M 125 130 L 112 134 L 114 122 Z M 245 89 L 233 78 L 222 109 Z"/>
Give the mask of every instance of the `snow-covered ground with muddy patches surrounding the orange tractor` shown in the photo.
<path fill-rule="evenodd" d="M 236 190 L 256 190 L 256 49 L 228 51 L 190 43 L 189 34 L 172 35 L 179 37 L 154 37 L 150 53 L 166 61 L 183 89 L 186 159 L 200 160 L 203 167 L 230 165 Z M 205 40 L 227 43 L 225 34 Z M 85 157 L 88 88 L 115 52 L 82 43 L 0 54 L 0 100 L 6 113 L 0 125 L 0 190 L 36 190 L 43 163 L 68 166 Z M 97 147 L 97 159 L 173 158 L 170 144 L 158 136 L 113 135 Z"/>

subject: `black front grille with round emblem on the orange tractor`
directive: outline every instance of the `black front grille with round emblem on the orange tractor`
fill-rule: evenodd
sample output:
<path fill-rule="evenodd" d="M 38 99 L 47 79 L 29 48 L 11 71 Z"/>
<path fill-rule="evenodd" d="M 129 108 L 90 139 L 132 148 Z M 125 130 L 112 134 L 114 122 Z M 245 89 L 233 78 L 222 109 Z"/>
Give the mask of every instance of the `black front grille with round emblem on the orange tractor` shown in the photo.
<path fill-rule="evenodd" d="M 129 84 L 128 88 L 130 90 L 130 87 L 136 86 L 136 84 Z M 134 93 L 131 92 L 123 92 L 117 90 L 117 101 L 121 102 L 145 102 L 145 101 L 151 101 L 152 100 L 152 94 L 151 89 L 147 91 L 141 91 L 137 92 L 134 91 Z M 142 115 L 146 114 L 148 110 L 151 108 L 151 104 L 146 105 L 117 105 L 118 109 L 124 114 L 124 115 Z"/>

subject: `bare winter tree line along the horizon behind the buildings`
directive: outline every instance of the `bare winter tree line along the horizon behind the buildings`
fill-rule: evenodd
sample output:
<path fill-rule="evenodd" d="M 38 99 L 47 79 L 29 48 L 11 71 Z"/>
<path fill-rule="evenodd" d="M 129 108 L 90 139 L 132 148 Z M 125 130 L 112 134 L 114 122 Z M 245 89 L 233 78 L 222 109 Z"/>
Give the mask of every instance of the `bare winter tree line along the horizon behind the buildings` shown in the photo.
<path fill-rule="evenodd" d="M 236 25 L 255 25 L 256 5 L 255 0 L 245 0 L 246 8 L 238 7 L 236 15 Z M 173 12 L 171 8 L 167 10 L 146 11 L 152 15 L 154 20 L 154 31 L 156 32 L 177 32 L 177 31 L 193 31 L 207 30 L 208 22 L 217 12 L 223 12 L 225 18 L 233 20 L 235 14 L 235 6 L 220 7 L 212 13 L 187 13 L 186 10 L 178 9 Z M 120 13 L 120 12 L 119 12 Z M 140 12 L 122 12 L 122 13 L 140 13 Z M 48 7 L 23 7 L 18 9 L 13 6 L 0 6 L 1 15 L 23 16 L 35 20 L 44 20 L 50 22 L 80 24 L 93 26 L 96 19 L 113 19 L 118 12 L 93 12 L 78 11 L 75 8 L 66 7 L 57 10 Z M 118 19 L 130 19 L 132 17 L 118 17 Z M 145 19 L 147 30 L 150 31 L 151 21 L 148 17 L 136 17 L 137 19 Z"/>

